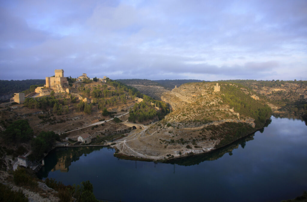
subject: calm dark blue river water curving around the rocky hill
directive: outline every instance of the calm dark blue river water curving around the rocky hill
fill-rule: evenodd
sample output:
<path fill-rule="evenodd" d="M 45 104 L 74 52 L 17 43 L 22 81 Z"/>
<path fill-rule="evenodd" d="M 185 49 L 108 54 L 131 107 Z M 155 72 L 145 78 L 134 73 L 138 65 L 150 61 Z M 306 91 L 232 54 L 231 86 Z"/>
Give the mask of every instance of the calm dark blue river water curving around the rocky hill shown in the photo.
<path fill-rule="evenodd" d="M 45 158 L 41 178 L 90 180 L 98 199 L 281 201 L 307 190 L 307 126 L 274 118 L 226 148 L 170 163 L 117 159 L 108 148 L 65 148 Z"/>

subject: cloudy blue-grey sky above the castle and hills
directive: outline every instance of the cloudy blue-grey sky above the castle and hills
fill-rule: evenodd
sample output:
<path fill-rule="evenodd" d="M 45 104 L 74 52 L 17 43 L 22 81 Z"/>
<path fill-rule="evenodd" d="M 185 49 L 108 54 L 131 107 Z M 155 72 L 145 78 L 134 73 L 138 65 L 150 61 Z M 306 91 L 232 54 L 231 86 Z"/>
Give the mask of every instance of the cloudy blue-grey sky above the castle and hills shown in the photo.
<path fill-rule="evenodd" d="M 307 80 L 307 1 L 0 1 L 0 79 Z"/>

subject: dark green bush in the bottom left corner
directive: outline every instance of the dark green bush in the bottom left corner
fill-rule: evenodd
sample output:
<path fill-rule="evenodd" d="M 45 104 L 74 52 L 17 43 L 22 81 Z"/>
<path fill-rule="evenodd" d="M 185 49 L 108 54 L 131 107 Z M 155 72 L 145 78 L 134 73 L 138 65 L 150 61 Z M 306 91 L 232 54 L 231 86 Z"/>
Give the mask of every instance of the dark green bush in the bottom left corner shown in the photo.
<path fill-rule="evenodd" d="M 28 202 L 28 198 L 19 191 L 12 191 L 8 185 L 0 183 L 0 201 Z"/>

